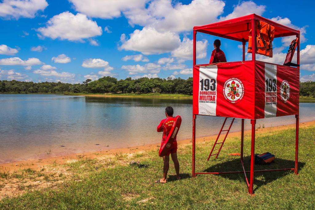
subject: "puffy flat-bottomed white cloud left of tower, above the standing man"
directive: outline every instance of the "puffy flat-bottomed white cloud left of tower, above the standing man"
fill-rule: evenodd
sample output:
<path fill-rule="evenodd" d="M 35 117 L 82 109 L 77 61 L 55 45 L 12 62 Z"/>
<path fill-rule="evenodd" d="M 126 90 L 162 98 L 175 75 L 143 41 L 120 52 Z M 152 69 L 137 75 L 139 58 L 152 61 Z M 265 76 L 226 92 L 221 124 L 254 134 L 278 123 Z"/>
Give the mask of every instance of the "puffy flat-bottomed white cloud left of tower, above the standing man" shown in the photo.
<path fill-rule="evenodd" d="M 139 51 L 145 55 L 167 53 L 180 45 L 178 34 L 170 31 L 158 32 L 151 27 L 135 30 L 130 34 L 129 40 L 124 38 L 125 36 L 121 37 L 121 49 Z"/>

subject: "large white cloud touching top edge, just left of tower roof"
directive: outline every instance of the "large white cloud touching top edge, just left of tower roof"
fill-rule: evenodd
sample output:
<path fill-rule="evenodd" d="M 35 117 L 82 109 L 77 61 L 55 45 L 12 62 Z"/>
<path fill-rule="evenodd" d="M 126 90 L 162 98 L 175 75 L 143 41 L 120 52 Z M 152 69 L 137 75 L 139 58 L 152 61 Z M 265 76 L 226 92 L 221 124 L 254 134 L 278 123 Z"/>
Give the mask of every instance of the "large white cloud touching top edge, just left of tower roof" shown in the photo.
<path fill-rule="evenodd" d="M 151 26 L 158 31 L 191 31 L 193 26 L 215 22 L 223 13 L 220 0 L 193 0 L 190 4 L 171 0 L 151 1 L 147 8 L 124 12 L 130 25 Z"/>

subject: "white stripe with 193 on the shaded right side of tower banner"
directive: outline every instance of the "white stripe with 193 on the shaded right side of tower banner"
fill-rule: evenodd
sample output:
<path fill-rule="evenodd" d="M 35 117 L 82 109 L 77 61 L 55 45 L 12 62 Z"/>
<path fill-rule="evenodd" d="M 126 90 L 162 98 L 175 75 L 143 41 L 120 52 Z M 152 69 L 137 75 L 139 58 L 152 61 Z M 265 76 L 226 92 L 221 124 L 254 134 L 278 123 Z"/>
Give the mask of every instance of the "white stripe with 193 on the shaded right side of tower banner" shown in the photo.
<path fill-rule="evenodd" d="M 277 113 L 277 65 L 265 64 L 265 118 Z"/>

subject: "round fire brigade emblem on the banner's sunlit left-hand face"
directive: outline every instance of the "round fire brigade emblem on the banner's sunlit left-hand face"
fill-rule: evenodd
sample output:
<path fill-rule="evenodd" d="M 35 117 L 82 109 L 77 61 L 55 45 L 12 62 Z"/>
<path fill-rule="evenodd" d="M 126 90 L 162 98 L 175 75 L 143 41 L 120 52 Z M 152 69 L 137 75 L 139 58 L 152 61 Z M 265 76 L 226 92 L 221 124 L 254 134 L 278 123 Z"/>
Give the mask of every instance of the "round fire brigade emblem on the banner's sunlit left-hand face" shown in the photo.
<path fill-rule="evenodd" d="M 223 95 L 232 104 L 240 102 L 244 96 L 243 82 L 236 77 L 226 80 L 223 85 Z"/>

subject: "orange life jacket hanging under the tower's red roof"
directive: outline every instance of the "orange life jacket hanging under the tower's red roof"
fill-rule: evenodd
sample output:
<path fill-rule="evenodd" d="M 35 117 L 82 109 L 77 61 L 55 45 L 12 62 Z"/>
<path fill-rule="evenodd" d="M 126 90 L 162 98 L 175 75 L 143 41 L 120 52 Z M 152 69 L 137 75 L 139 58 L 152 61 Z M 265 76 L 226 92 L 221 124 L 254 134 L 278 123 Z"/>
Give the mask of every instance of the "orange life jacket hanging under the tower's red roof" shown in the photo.
<path fill-rule="evenodd" d="M 272 41 L 275 27 L 263 21 L 256 21 L 256 54 L 266 55 L 272 58 Z M 248 36 L 248 53 L 252 53 L 252 30 Z"/>

